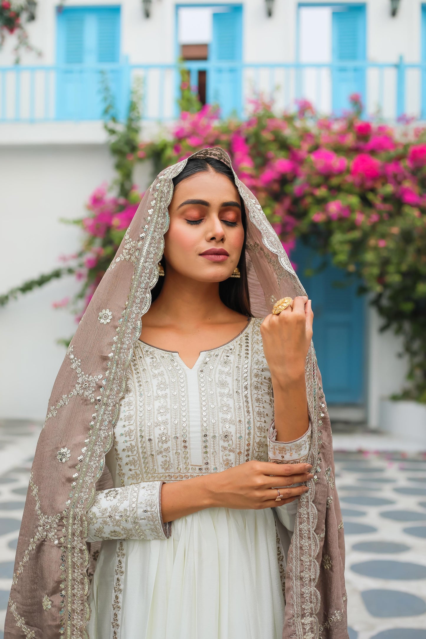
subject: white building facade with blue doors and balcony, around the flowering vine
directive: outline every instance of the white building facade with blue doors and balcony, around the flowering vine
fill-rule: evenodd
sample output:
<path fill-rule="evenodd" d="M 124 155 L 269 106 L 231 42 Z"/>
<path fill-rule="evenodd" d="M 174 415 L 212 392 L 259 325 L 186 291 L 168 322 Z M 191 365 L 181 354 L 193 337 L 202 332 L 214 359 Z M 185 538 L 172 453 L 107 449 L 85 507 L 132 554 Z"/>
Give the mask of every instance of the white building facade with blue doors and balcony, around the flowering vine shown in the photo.
<path fill-rule="evenodd" d="M 79 248 L 79 232 L 59 219 L 81 217 L 89 194 L 113 177 L 101 120 L 105 74 L 121 114 L 135 77 L 142 77 L 145 131 L 178 115 L 179 56 L 202 100 L 218 102 L 224 115 L 243 117 L 247 98 L 261 90 L 278 107 L 293 108 L 303 97 L 324 113 L 344 111 L 356 92 L 366 116 L 420 119 L 426 113 L 426 4 L 400 0 L 394 16 L 392 6 L 390 0 L 39 1 L 28 31 L 42 56 L 25 53 L 13 65 L 13 38 L 0 52 L 0 291 L 49 272 L 59 256 Z M 149 170 L 138 169 L 141 189 Z M 380 321 L 365 300 L 334 296 L 337 314 L 330 316 L 327 281 L 304 284 L 314 302 L 315 291 L 323 291 L 316 320 L 331 411 L 377 427 L 380 397 L 399 391 L 404 380 L 397 339 L 379 334 Z M 56 339 L 75 330 L 73 318 L 52 302 L 76 286 L 72 278 L 51 282 L 1 310 L 0 417 L 43 419 L 64 355 Z M 345 304 L 346 316 L 340 312 Z M 339 358 L 346 368 L 337 370 Z M 26 394 L 17 397 L 23 371 Z M 345 380 L 340 390 L 331 388 L 333 379 Z"/>

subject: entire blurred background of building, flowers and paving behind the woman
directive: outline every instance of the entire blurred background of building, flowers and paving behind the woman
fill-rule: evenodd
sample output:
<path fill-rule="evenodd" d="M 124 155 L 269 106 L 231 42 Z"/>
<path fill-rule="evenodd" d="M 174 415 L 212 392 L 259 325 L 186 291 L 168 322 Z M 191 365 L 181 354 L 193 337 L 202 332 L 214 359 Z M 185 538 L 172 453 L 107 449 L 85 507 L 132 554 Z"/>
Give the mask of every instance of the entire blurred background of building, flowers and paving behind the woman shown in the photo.
<path fill-rule="evenodd" d="M 0 628 L 66 346 L 153 176 L 217 145 L 313 300 L 350 637 L 426 639 L 425 120 L 421 0 L 0 0 Z"/>

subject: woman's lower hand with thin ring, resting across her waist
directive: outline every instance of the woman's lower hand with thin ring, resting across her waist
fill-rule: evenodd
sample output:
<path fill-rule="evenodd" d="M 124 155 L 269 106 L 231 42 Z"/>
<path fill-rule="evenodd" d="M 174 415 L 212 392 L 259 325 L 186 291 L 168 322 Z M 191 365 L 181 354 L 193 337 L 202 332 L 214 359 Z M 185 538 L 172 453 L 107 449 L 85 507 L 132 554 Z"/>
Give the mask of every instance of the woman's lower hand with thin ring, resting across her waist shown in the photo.
<path fill-rule="evenodd" d="M 239 510 L 273 508 L 293 502 L 307 492 L 303 482 L 312 479 L 310 464 L 247 461 L 206 477 L 211 506 Z M 302 484 L 294 486 L 294 484 Z M 282 499 L 276 502 L 280 490 Z"/>

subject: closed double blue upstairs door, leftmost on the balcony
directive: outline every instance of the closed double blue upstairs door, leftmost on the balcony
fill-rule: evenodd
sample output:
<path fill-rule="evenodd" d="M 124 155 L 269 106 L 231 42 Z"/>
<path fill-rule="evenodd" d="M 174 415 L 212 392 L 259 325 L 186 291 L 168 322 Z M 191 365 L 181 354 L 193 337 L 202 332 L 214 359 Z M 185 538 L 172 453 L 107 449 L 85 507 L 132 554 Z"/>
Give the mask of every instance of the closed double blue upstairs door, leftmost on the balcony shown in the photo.
<path fill-rule="evenodd" d="M 119 7 L 65 7 L 57 13 L 57 119 L 102 117 L 103 79 L 119 95 L 119 49 Z"/>

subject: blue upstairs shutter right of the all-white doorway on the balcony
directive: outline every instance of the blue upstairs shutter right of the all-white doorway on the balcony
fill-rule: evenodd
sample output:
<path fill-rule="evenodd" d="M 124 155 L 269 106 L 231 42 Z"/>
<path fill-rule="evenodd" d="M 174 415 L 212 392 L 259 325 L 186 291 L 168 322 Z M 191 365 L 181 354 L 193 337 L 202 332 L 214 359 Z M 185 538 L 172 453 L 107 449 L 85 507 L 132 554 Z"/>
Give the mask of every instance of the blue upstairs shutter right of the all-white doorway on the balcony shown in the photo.
<path fill-rule="evenodd" d="M 351 63 L 365 61 L 365 6 L 333 8 L 332 20 L 333 111 L 349 109 L 349 96 L 365 96 L 365 69 Z"/>

